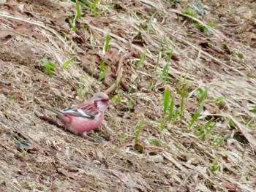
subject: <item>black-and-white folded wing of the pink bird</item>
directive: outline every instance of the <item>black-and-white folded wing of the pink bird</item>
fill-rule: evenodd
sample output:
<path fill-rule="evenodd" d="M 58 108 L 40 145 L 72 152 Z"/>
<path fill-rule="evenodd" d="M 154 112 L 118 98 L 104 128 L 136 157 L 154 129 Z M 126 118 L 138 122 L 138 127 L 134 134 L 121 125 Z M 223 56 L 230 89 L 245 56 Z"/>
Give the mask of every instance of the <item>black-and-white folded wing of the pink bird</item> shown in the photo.
<path fill-rule="evenodd" d="M 97 115 L 99 112 L 95 111 L 90 112 L 89 110 L 83 110 L 83 109 L 77 109 L 77 108 L 67 108 L 64 110 L 61 110 L 63 114 L 68 114 L 76 117 L 81 117 L 81 118 L 89 118 L 89 119 L 94 119 L 95 115 Z"/>

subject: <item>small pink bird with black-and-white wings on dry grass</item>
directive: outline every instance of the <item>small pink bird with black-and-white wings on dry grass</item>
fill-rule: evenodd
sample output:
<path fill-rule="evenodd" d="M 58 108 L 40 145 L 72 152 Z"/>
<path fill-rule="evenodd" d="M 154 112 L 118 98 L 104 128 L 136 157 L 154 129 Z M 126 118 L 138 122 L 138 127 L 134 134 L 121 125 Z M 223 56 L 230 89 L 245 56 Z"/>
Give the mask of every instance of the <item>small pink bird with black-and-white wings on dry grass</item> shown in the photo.
<path fill-rule="evenodd" d="M 85 104 L 64 110 L 54 110 L 50 107 L 42 107 L 45 110 L 56 113 L 57 118 L 75 134 L 83 134 L 102 125 L 104 112 L 108 108 L 109 98 L 106 93 L 95 93 Z"/>

